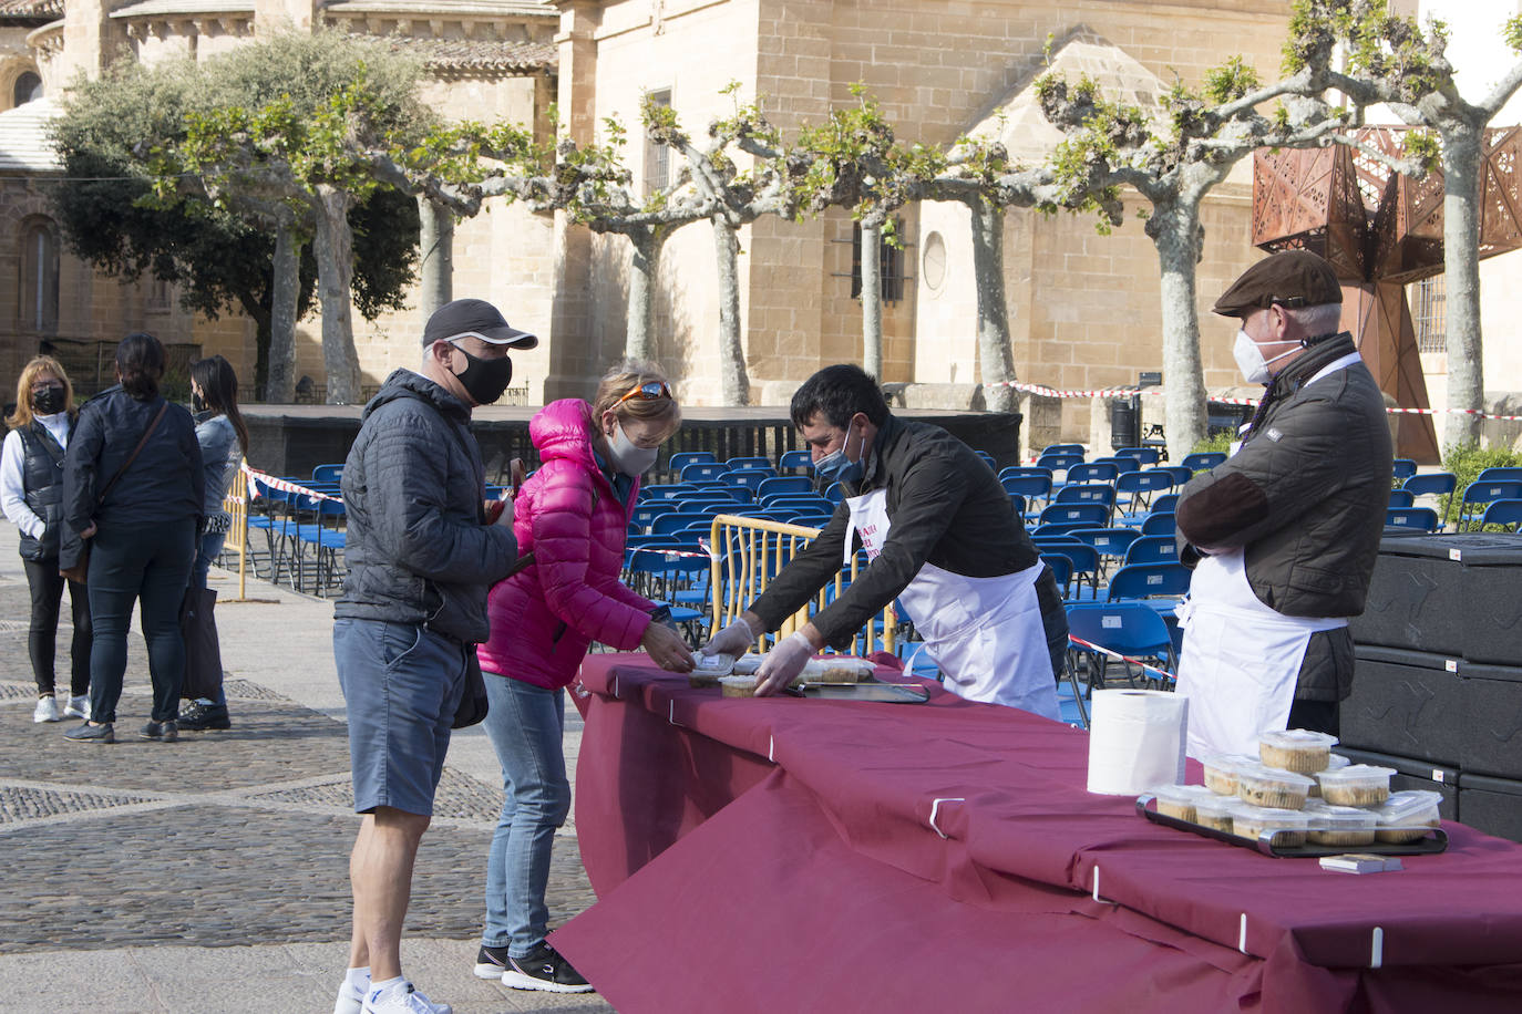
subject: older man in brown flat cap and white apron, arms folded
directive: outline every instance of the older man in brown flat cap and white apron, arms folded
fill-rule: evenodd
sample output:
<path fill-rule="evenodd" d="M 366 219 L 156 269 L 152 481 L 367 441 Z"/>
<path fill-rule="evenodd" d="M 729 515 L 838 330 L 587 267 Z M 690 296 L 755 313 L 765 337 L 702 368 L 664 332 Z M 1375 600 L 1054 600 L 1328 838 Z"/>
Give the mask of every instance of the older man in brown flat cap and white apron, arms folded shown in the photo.
<path fill-rule="evenodd" d="M 1291 251 L 1253 265 L 1213 307 L 1266 389 L 1231 456 L 1178 500 L 1178 692 L 1189 754 L 1257 754 L 1271 730 L 1338 730 L 1353 684 L 1348 617 L 1364 611 L 1390 505 L 1385 401 L 1341 331 L 1332 266 Z"/>

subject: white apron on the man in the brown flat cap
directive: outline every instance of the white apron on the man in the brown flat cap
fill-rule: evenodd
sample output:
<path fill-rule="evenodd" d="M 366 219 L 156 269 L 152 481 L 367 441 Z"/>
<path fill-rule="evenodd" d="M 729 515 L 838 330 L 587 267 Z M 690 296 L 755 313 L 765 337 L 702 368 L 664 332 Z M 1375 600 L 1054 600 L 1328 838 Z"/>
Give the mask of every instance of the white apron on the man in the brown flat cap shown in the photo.
<path fill-rule="evenodd" d="M 1358 353 L 1344 356 L 1309 383 L 1355 362 Z M 1239 445 L 1233 444 L 1233 455 Z M 1289 721 L 1310 635 L 1347 626 L 1345 617 L 1285 616 L 1263 605 L 1248 584 L 1240 549 L 1204 556 L 1177 613 L 1184 629 L 1178 693 L 1189 698 L 1186 753 L 1196 760 L 1210 754 L 1256 757 L 1257 737 Z"/>

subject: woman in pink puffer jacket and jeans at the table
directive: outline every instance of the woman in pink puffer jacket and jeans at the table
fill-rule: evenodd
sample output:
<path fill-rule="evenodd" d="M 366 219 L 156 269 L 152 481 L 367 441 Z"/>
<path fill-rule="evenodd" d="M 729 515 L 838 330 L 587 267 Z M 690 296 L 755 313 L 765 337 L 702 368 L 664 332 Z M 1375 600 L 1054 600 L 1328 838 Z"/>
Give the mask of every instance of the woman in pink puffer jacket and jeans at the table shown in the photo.
<path fill-rule="evenodd" d="M 545 943 L 549 847 L 571 809 L 562 733 L 565 687 L 594 640 L 644 648 L 673 672 L 693 654 L 654 604 L 619 581 L 639 476 L 682 412 L 661 371 L 624 363 L 592 404 L 546 404 L 530 424 L 540 467 L 514 502 L 519 558 L 533 564 L 492 588 L 492 635 L 479 649 L 492 702 L 486 731 L 502 765 L 505 798 L 486 868 L 486 930 L 475 974 L 519 990 L 584 993 L 587 985 Z"/>

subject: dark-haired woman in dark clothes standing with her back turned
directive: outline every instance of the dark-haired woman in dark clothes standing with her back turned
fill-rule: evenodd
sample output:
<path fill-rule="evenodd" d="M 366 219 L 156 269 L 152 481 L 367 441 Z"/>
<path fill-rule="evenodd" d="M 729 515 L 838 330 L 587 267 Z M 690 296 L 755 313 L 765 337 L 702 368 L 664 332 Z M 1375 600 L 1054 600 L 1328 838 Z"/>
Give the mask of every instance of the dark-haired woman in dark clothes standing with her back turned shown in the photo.
<path fill-rule="evenodd" d="M 164 401 L 164 347 L 128 334 L 116 348 L 117 385 L 91 398 L 64 462 L 64 521 L 90 541 L 90 721 L 65 736 L 114 742 L 126 675 L 126 626 L 142 611 L 154 711 L 145 739 L 174 740 L 186 649 L 180 604 L 201 521 L 201 447 L 190 414 Z M 145 439 L 146 435 L 146 439 Z M 137 458 L 132 458 L 134 450 Z M 59 555 L 65 569 L 76 561 Z"/>

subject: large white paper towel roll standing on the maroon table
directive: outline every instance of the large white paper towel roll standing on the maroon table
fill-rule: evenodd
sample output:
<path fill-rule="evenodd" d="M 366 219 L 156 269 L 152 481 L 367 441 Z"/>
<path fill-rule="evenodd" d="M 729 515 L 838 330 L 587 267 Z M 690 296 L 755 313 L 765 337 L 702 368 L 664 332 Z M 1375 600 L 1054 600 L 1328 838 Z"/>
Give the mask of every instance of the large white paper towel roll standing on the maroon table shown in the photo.
<path fill-rule="evenodd" d="M 1184 781 L 1189 698 L 1164 690 L 1094 690 L 1088 791 L 1137 795 Z"/>

